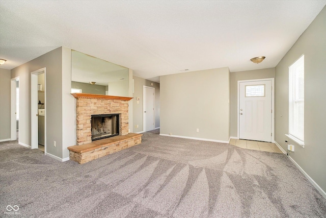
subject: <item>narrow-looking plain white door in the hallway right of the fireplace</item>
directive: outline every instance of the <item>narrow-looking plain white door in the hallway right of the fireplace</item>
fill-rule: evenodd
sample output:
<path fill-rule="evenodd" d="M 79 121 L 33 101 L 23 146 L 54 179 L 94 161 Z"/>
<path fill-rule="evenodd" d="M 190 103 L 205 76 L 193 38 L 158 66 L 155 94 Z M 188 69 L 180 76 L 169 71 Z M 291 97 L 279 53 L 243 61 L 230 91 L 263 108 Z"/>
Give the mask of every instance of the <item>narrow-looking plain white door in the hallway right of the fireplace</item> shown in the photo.
<path fill-rule="evenodd" d="M 144 86 L 143 108 L 144 108 L 144 132 L 154 129 L 154 95 L 155 88 Z"/>

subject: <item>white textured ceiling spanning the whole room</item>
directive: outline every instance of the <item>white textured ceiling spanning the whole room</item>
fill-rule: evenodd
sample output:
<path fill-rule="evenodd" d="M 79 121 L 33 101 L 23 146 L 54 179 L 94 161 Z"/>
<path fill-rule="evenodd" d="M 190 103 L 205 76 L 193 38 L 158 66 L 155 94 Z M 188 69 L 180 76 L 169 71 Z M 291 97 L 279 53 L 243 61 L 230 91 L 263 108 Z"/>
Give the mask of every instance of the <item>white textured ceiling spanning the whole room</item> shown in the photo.
<path fill-rule="evenodd" d="M 321 1 L 0 1 L 1 68 L 60 46 L 158 76 L 275 67 Z M 266 56 L 260 64 L 250 58 Z"/>

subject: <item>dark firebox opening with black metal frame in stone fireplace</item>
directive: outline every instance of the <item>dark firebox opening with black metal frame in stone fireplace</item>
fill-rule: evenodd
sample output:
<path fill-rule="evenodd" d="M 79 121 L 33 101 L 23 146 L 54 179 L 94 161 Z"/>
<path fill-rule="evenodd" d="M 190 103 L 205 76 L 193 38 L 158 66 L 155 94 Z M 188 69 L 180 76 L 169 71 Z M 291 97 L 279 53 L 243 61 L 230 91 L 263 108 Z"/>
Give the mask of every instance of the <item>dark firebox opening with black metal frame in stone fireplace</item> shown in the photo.
<path fill-rule="evenodd" d="M 92 141 L 119 135 L 119 114 L 99 114 L 91 117 Z"/>

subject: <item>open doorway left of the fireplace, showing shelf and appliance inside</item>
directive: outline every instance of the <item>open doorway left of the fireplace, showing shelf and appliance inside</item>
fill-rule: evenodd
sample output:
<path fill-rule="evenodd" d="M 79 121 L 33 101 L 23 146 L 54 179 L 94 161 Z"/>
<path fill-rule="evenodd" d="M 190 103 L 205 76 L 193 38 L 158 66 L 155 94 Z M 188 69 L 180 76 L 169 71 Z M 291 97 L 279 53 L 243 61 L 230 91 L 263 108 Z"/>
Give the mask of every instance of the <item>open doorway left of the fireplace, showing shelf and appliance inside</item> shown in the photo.
<path fill-rule="evenodd" d="M 31 72 L 31 147 L 46 153 L 46 70 Z"/>

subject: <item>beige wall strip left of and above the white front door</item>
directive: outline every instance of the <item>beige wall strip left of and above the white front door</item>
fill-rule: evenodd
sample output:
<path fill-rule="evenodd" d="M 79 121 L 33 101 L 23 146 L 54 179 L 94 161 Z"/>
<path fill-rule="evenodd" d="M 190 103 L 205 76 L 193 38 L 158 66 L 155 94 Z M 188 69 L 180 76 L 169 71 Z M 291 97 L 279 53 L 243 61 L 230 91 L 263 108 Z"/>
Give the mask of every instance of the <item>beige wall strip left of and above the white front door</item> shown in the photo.
<path fill-rule="evenodd" d="M 230 136 L 238 136 L 237 94 L 239 80 L 275 78 L 275 68 L 230 72 Z"/>

